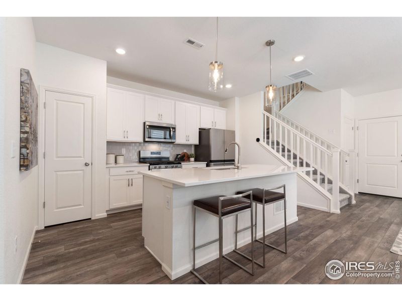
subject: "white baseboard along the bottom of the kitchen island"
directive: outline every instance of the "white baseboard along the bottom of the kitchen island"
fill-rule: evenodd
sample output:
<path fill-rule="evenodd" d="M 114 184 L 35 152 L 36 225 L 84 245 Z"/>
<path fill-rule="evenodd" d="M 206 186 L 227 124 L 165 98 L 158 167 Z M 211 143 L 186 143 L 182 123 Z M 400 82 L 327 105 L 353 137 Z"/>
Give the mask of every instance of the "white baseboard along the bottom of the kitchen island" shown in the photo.
<path fill-rule="evenodd" d="M 292 219 L 287 220 L 286 225 L 290 225 L 290 224 L 292 224 L 292 223 L 294 223 L 294 222 L 297 222 L 297 221 L 298 221 L 298 217 L 296 216 L 296 217 L 294 217 L 294 218 L 292 218 Z M 282 224 L 278 224 L 278 225 L 275 225 L 275 226 L 273 226 L 273 227 L 271 227 L 271 228 L 265 229 L 265 235 L 268 235 L 268 234 L 270 234 L 270 233 L 272 233 L 272 232 L 275 232 L 276 230 L 279 230 L 279 229 L 281 229 L 281 228 L 283 228 L 283 225 L 282 225 Z M 257 232 L 257 236 L 258 236 L 258 237 L 262 236 L 262 230 L 261 230 L 260 232 Z M 244 246 L 244 245 L 246 245 L 246 244 L 248 244 L 248 243 L 250 243 L 250 238 L 245 238 L 245 239 L 243 239 L 243 240 L 241 240 L 241 241 L 238 241 L 238 247 L 242 247 L 242 246 Z M 175 269 L 175 270 L 172 271 L 167 265 L 165 265 L 165 264 L 164 264 L 164 263 L 146 246 L 146 240 L 144 241 L 144 246 L 145 246 L 145 248 L 148 250 L 148 252 L 151 253 L 151 255 L 161 264 L 162 270 L 165 272 L 165 274 L 166 274 L 171 280 L 174 280 L 174 279 L 176 279 L 176 278 L 178 278 L 178 277 L 180 277 L 180 276 L 182 276 L 182 275 L 188 273 L 188 272 L 192 269 L 192 264 L 186 264 L 186 265 L 181 266 L 181 267 L 179 267 L 179 268 L 177 268 L 177 269 Z M 233 251 L 233 246 L 228 246 L 228 247 L 224 248 L 223 253 L 226 254 L 226 253 L 229 253 L 229 252 L 231 252 L 231 251 Z M 208 262 L 210 262 L 210 261 L 212 261 L 212 260 L 214 260 L 214 259 L 216 259 L 216 258 L 218 258 L 218 257 L 219 257 L 219 252 L 215 252 L 215 253 L 212 253 L 212 254 L 210 254 L 210 255 L 208 255 L 208 256 L 205 256 L 205 257 L 203 257 L 203 258 L 197 259 L 196 262 L 195 262 L 195 267 L 202 266 L 202 265 L 204 265 L 204 264 L 206 264 L 206 263 L 208 263 Z"/>

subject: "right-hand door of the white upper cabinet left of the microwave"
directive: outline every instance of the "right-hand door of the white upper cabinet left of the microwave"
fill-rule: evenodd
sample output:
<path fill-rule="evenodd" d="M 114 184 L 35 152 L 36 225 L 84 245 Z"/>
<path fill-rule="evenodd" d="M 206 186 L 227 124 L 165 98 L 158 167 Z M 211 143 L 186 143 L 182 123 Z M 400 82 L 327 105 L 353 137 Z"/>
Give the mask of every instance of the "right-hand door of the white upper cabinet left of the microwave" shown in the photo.
<path fill-rule="evenodd" d="M 128 141 L 143 141 L 144 98 L 142 94 L 126 92 L 125 129 Z"/>

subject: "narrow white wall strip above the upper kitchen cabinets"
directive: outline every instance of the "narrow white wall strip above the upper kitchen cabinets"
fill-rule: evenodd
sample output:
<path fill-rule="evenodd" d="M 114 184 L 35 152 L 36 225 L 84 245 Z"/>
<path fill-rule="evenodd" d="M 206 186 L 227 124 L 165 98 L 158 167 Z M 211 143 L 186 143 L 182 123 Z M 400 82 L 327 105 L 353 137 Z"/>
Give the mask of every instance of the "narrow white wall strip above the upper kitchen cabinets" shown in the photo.
<path fill-rule="evenodd" d="M 112 85 L 118 85 L 118 86 L 137 89 L 137 90 L 141 90 L 141 91 L 145 91 L 145 92 L 161 94 L 164 96 L 185 99 L 188 101 L 194 101 L 194 102 L 219 106 L 219 102 L 215 101 L 215 100 L 192 96 L 192 95 L 188 95 L 188 94 L 184 94 L 184 93 L 180 93 L 180 92 L 176 92 L 176 91 L 161 89 L 161 88 L 157 88 L 157 87 L 153 87 L 153 86 L 148 86 L 148 85 L 144 85 L 144 84 L 140 84 L 140 83 L 136 83 L 136 82 L 132 82 L 132 81 L 128 81 L 128 80 L 124 80 L 124 79 L 120 79 L 120 78 L 116 78 L 116 77 L 112 77 L 112 76 L 107 77 L 107 82 L 108 82 L 108 84 L 112 84 Z"/>

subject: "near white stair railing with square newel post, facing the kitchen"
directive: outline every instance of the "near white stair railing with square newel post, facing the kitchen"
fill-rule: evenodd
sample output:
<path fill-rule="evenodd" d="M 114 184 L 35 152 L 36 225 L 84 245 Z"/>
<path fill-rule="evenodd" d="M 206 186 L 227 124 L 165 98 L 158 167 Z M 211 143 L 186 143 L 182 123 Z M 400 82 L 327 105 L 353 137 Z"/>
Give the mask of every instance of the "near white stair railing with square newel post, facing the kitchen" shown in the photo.
<path fill-rule="evenodd" d="M 285 122 L 263 111 L 263 145 L 272 149 L 278 156 L 284 158 L 289 166 L 313 167 L 315 172 L 303 174 L 319 190 L 324 189 L 331 195 L 330 211 L 339 213 L 339 186 L 342 181 L 341 150 L 328 150 L 313 139 L 298 132 Z M 303 165 L 300 165 L 300 159 Z M 332 188 L 329 188 L 332 182 Z M 323 186 L 322 186 L 323 184 Z M 332 192 L 329 191 L 332 189 Z"/>

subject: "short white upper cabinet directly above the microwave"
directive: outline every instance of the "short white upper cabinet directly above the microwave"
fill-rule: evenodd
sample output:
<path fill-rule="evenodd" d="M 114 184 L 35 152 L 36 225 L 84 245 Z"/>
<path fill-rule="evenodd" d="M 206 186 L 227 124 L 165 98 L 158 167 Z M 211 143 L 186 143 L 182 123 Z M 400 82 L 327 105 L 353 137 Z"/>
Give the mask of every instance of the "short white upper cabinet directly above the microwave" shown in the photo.
<path fill-rule="evenodd" d="M 174 101 L 155 96 L 145 96 L 145 120 L 174 123 Z"/>

